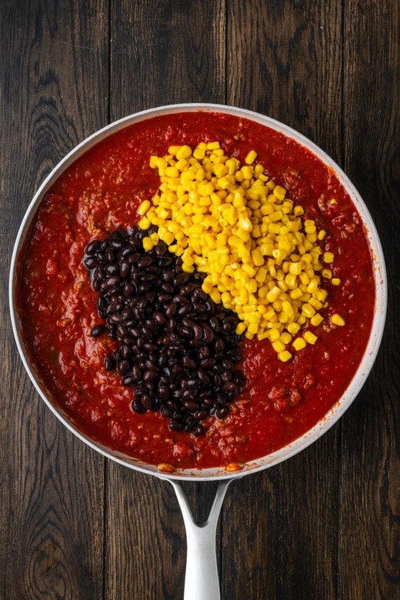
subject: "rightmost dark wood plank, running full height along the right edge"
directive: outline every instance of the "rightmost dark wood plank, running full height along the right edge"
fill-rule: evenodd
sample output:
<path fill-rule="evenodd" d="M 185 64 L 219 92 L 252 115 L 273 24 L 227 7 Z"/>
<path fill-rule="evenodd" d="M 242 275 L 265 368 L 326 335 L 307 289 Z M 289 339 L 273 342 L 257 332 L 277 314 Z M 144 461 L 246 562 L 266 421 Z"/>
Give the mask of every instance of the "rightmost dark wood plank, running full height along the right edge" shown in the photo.
<path fill-rule="evenodd" d="M 343 420 L 339 589 L 349 600 L 371 589 L 399 597 L 399 22 L 396 2 L 347 3 L 345 170 L 373 215 L 390 282 L 382 349 Z"/>

